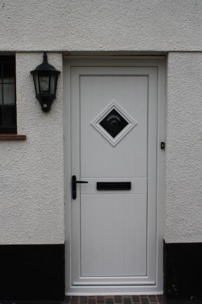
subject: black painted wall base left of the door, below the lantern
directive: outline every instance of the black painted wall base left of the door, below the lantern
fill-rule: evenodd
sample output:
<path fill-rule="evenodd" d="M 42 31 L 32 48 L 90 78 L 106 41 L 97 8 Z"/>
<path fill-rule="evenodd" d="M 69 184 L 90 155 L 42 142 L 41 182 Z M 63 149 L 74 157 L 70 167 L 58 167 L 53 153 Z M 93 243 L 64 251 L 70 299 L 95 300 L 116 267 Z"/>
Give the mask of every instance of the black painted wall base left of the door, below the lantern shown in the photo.
<path fill-rule="evenodd" d="M 63 300 L 64 244 L 0 245 L 0 300 Z"/>

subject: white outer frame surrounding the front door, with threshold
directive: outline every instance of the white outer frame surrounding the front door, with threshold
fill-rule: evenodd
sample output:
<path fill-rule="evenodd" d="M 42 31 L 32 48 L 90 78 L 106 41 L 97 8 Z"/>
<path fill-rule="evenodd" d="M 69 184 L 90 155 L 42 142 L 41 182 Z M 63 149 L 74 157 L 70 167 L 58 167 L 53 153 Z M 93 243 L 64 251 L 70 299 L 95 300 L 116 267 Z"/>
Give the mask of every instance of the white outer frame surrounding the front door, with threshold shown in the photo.
<path fill-rule="evenodd" d="M 157 122 L 157 244 L 155 285 L 136 286 L 72 286 L 72 222 L 71 222 L 71 67 L 72 66 L 139 66 L 158 68 L 158 122 Z M 165 141 L 165 57 L 100 57 L 64 56 L 64 203 L 65 203 L 65 294 L 162 294 L 163 293 L 163 236 L 164 236 L 164 151 Z"/>

